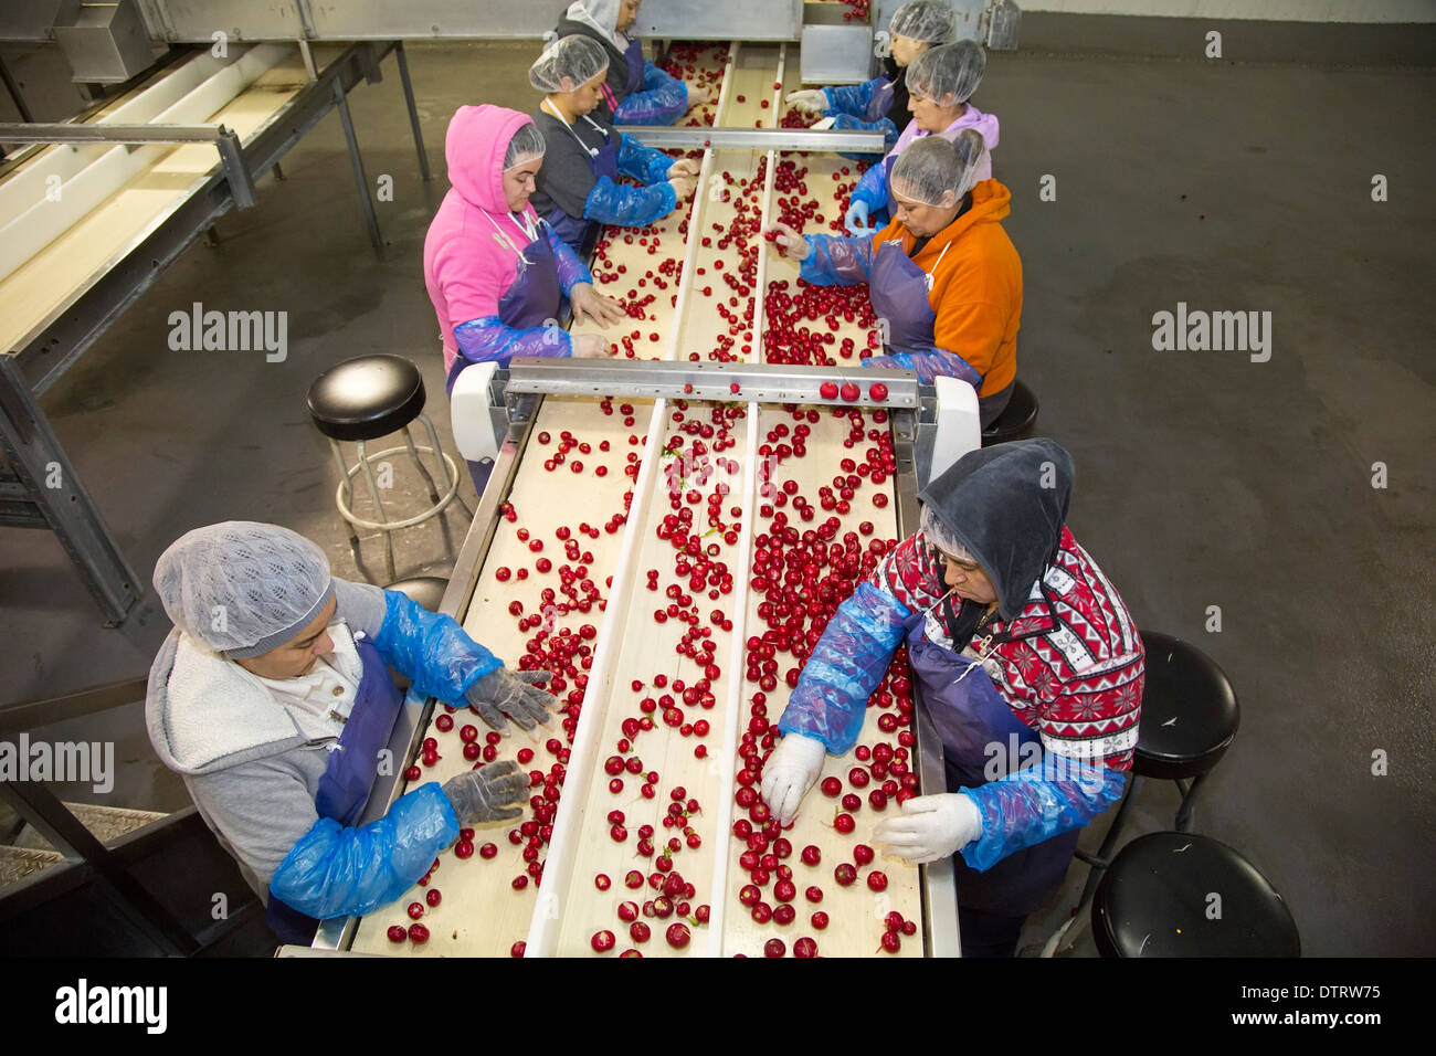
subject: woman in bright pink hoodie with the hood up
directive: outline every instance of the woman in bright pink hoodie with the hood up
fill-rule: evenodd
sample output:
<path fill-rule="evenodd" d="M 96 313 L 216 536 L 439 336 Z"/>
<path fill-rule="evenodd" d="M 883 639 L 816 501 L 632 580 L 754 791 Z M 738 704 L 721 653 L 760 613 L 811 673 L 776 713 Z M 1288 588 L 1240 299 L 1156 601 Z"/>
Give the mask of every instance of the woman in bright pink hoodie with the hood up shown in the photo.
<path fill-rule="evenodd" d="M 468 363 L 607 355 L 602 336 L 557 325 L 566 297 L 574 323 L 600 329 L 623 309 L 593 289 L 589 269 L 528 204 L 544 155 L 533 118 L 460 106 L 444 155 L 452 187 L 424 240 L 424 284 L 444 333 L 445 391 Z"/>

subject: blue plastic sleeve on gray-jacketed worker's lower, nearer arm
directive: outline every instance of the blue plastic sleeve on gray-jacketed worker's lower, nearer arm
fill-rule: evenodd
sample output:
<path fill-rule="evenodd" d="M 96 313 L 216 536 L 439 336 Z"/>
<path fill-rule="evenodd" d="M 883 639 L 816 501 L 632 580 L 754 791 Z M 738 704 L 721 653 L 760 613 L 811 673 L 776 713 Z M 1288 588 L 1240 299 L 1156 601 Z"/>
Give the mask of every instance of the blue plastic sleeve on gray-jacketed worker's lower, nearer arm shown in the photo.
<path fill-rule="evenodd" d="M 434 782 L 358 829 L 320 818 L 280 862 L 270 898 L 316 920 L 362 917 L 414 886 L 434 856 L 458 839 L 458 828 L 448 796 Z"/>

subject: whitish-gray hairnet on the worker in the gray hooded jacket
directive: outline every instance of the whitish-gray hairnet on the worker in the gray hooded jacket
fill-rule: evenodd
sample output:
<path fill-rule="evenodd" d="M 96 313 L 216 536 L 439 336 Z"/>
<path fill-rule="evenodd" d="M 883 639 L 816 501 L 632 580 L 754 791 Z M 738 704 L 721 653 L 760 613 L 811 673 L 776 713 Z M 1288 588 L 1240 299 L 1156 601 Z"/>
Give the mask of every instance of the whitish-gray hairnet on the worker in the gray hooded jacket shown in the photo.
<path fill-rule="evenodd" d="M 154 582 L 174 625 L 230 659 L 283 645 L 335 593 L 323 550 L 250 520 L 185 532 L 159 555 Z"/>

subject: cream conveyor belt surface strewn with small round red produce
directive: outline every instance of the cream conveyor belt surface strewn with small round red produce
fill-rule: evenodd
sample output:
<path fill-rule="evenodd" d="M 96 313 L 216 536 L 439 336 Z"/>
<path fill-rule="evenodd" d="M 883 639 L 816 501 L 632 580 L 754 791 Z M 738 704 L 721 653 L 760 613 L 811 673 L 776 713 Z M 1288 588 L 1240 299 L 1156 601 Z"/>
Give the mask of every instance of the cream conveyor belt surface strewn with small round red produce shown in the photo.
<path fill-rule="evenodd" d="M 785 91 L 780 88 L 785 80 L 784 49 L 734 45 L 727 50 L 717 124 L 775 125 Z M 709 62 L 721 53 L 705 52 Z M 856 172 L 844 174 L 844 167 L 840 159 L 820 155 L 704 151 L 689 216 L 679 210 L 642 231 L 610 230 L 600 241 L 593 269 L 600 289 L 629 305 L 652 297 L 633 312 L 630 326 L 609 335 L 629 339 L 620 341 L 617 355 L 758 362 L 760 355 L 771 353 L 764 348 L 764 305 L 758 295 L 773 297 L 774 312 L 791 315 L 796 309 L 781 302 L 796 293 L 797 269 L 767 250 L 757 221 L 778 216 L 778 198 L 791 198 L 793 210 L 801 197 L 816 198 L 819 205 L 808 230 L 819 230 L 814 224 L 836 226 L 840 208 L 834 194 L 846 193 L 856 178 Z M 803 168 L 807 171 L 800 175 Z M 806 194 L 798 187 L 804 181 Z M 752 230 L 731 231 L 735 220 Z M 711 244 L 704 246 L 705 238 Z M 665 261 L 679 256 L 682 282 L 663 270 Z M 732 276 L 732 283 L 725 276 Z M 870 323 L 870 312 L 862 310 L 852 319 L 814 319 L 814 330 L 834 333 L 833 343 L 821 346 L 831 355 L 820 349 L 817 359 L 856 366 L 857 349 L 869 346 Z M 849 361 L 841 356 L 844 348 Z M 777 358 L 800 355 L 801 349 L 784 348 Z M 424 886 L 438 888 L 441 901 L 437 907 L 425 904 L 419 917 L 428 927 L 428 941 L 395 942 L 386 935 L 389 928 L 409 925 L 411 902 L 425 902 L 424 886 L 416 886 L 346 930 L 326 925 L 316 945 L 343 947 L 352 937 L 356 953 L 507 955 L 524 942 L 527 955 L 592 955 L 593 935 L 612 931 L 616 944 L 606 955 L 629 948 L 643 955 L 763 955 L 767 940 L 781 938 L 791 953 L 800 937 L 816 940 L 821 955 L 873 955 L 880 950 L 889 912 L 923 921 L 920 871 L 898 859 L 859 865 L 852 886 L 834 881 L 834 866 L 853 862 L 853 846 L 870 843 L 872 826 L 882 816 L 867 797 L 872 789 L 862 789 L 863 803 L 853 812 L 857 825 L 850 835 L 834 829 L 834 803 L 817 789 L 794 828 L 783 833 L 793 852 L 781 863 L 793 871 L 797 889 L 796 920 L 787 925 L 760 924 L 742 904 L 740 892 L 752 881 L 740 862 L 748 842 L 732 835 L 734 823 L 750 816 L 735 802 L 741 737 L 748 730 L 758 730 L 761 737 L 763 723 L 777 720 L 787 701 L 785 674 L 798 665 L 793 655 L 778 651 L 771 658 L 775 675 L 765 693 L 748 678 L 750 636 L 771 634 L 765 619 L 770 606 L 752 586 L 761 575 L 754 565 L 755 540 L 771 549 L 770 537 L 783 530 L 778 517 L 790 519 L 793 537 L 824 526 L 830 516 L 836 526 L 824 526 L 824 533 L 839 547 L 847 533 L 863 550 L 872 540 L 896 539 L 899 509 L 910 507 L 910 494 L 903 494 L 903 488 L 910 493 L 910 477 L 883 473 L 879 480 L 864 467 L 863 476 L 853 476 L 857 487 L 850 511 L 837 516 L 821 510 L 811 522 L 787 504 L 783 490 L 783 483 L 793 480 L 798 494 L 817 501 L 821 487 L 837 487 L 834 476 L 847 476 L 844 458 L 863 463 L 872 445 L 879 460 L 890 460 L 890 424 L 883 411 L 744 402 L 741 391 L 732 402 L 543 398 L 533 421 L 520 420 L 511 428 L 490 484 L 491 493 L 504 487 L 513 466 L 507 493 L 511 506 L 503 507 L 511 510 L 511 519 L 497 519 L 487 553 L 478 555 L 478 537 L 488 533 L 480 510 L 445 601 L 470 598 L 467 580 L 472 578 L 471 599 L 462 609 L 465 628 L 511 665 L 540 657 L 541 667 L 559 672 L 560 705 L 582 718 L 570 718 L 567 728 L 556 723 L 537 738 L 523 733 L 495 738 L 494 757 L 520 757 L 534 774 L 537 816 L 530 810 L 518 828 L 493 826 L 474 833 L 475 848 L 493 845 L 490 858 L 478 852 L 457 858 L 452 849 L 439 855 L 438 869 Z M 803 457 L 780 448 L 791 447 L 798 425 L 811 430 Z M 559 454 L 563 443 L 572 448 Z M 695 447 L 695 454 L 685 454 Z M 727 493 L 719 494 L 719 484 L 727 484 Z M 494 509 L 498 497 L 485 493 L 485 506 Z M 527 532 L 527 540 L 520 537 L 520 529 Z M 561 539 L 564 532 L 567 540 Z M 695 542 L 685 539 L 675 546 L 675 533 Z M 536 540 L 541 552 L 531 549 Z M 808 555 L 788 566 L 798 569 L 800 580 L 804 562 L 820 563 L 811 547 Z M 702 582 L 694 572 L 698 556 L 711 562 Z M 540 570 L 540 557 L 551 562 L 547 572 Z M 465 565 L 470 559 L 474 563 Z M 566 568 L 573 580 L 570 596 L 563 593 Z M 527 573 L 523 580 L 520 569 Z M 656 579 L 651 579 L 653 570 Z M 821 569 L 821 575 L 827 572 Z M 651 589 L 651 582 L 658 589 Z M 665 592 L 671 585 L 678 596 Z M 541 593 L 546 589 L 556 592 L 547 601 Z M 586 611 L 584 599 L 592 599 Z M 811 626 L 804 624 L 804 629 Z M 752 657 L 760 677 L 768 675 L 761 668 L 764 659 Z M 754 701 L 764 697 L 755 714 Z M 879 730 L 880 715 L 890 715 L 885 723 L 899 721 L 899 701 L 890 693 L 879 700 L 886 707 L 869 708 L 860 744 L 900 747 L 895 733 Z M 462 756 L 465 724 L 475 727 L 478 743 L 485 740 L 482 723 L 467 713 L 451 715 L 452 728 L 437 728 L 435 723 L 447 724 L 441 720 L 447 708 L 439 705 L 437 711 L 422 736 L 435 738 L 442 759 L 432 767 L 421 764 L 419 782 L 445 780 L 472 764 Z M 705 731 L 692 728 L 699 721 L 707 723 Z M 419 740 L 415 737 L 415 747 Z M 918 769 L 916 759 L 909 763 Z M 823 773 L 841 779 L 844 793 L 856 792 L 846 780 L 854 764 L 852 756 L 829 757 Z M 651 780 L 652 774 L 656 779 Z M 553 796 L 560 790 L 554 807 Z M 401 792 L 402 783 L 393 795 Z M 675 803 L 685 818 L 663 828 L 662 819 Z M 382 807 L 386 803 L 372 805 L 372 810 Z M 623 815 L 620 830 L 610 820 L 615 810 Z M 640 843 L 642 826 L 653 829 L 646 843 Z M 678 849 L 661 861 L 673 839 Z M 800 861 L 808 845 L 820 851 L 817 866 Z M 875 869 L 887 878 L 882 892 L 866 884 Z M 640 874 L 638 889 L 626 886 L 630 871 Z M 692 937 L 682 950 L 665 941 L 668 927 L 682 920 L 676 909 L 662 914 L 659 904 L 652 917 L 640 912 L 638 921 L 652 932 L 642 942 L 630 938 L 629 922 L 619 915 L 623 902 L 656 902 L 661 892 L 649 881 L 665 874 L 681 874 L 684 885 L 692 886 L 691 895 L 671 898 L 673 904 L 689 902 L 685 922 Z M 773 908 L 781 904 L 774 898 L 775 874 L 770 869 L 763 885 L 763 901 Z M 607 879 L 606 888 L 600 888 L 600 878 Z M 813 885 L 821 888 L 821 904 L 804 897 Z M 951 885 L 946 898 L 952 912 Z M 707 907 L 707 922 L 698 922 L 698 907 Z M 817 909 L 830 917 L 826 930 L 814 930 L 810 922 Z M 900 955 L 922 954 L 925 940 L 931 937 L 906 938 Z"/>

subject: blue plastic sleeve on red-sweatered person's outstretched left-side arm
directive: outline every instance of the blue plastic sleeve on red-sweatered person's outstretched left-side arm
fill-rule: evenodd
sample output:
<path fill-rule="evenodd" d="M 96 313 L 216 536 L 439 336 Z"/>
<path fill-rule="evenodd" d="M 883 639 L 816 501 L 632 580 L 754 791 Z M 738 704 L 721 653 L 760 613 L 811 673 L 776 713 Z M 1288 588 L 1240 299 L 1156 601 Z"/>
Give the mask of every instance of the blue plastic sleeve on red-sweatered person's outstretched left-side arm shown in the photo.
<path fill-rule="evenodd" d="M 814 737 L 834 756 L 852 751 L 867 698 L 903 639 L 908 615 L 908 608 L 886 590 L 859 583 L 823 629 L 778 730 Z"/>

